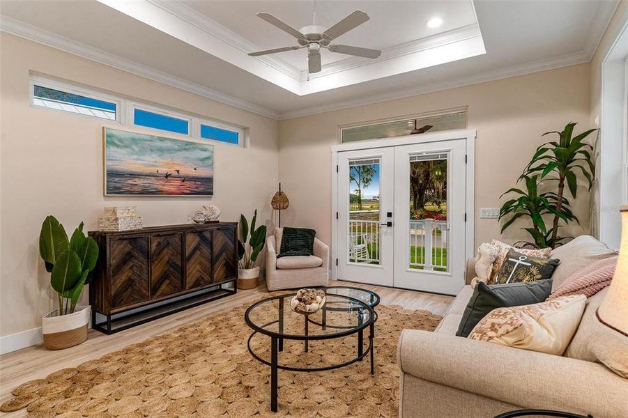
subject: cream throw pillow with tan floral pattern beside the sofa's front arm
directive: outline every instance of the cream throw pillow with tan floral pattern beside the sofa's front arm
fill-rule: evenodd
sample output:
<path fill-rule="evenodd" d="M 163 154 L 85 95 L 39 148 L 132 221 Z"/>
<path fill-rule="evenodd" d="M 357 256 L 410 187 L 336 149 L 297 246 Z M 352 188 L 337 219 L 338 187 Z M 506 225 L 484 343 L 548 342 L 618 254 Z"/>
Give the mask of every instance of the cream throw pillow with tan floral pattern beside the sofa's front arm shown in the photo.
<path fill-rule="evenodd" d="M 562 355 L 578 330 L 586 300 L 585 295 L 561 296 L 521 307 L 493 309 L 468 338 Z"/>

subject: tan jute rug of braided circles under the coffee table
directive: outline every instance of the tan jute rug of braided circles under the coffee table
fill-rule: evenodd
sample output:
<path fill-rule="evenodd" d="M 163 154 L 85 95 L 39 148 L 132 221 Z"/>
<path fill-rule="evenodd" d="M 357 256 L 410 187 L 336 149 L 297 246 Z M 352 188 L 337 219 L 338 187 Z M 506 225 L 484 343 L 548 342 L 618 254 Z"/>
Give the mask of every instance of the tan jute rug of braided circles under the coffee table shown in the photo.
<path fill-rule="evenodd" d="M 396 350 L 404 328 L 432 331 L 440 316 L 379 305 L 375 376 L 368 357 L 341 369 L 279 371 L 279 411 L 270 412 L 270 367 L 247 351 L 248 305 L 213 314 L 178 330 L 51 373 L 13 389 L 0 411 L 26 408 L 28 417 L 397 417 Z M 366 340 L 366 339 L 365 339 Z M 279 362 L 335 364 L 355 356 L 357 339 L 284 341 Z M 266 336 L 252 346 L 270 357 Z"/>

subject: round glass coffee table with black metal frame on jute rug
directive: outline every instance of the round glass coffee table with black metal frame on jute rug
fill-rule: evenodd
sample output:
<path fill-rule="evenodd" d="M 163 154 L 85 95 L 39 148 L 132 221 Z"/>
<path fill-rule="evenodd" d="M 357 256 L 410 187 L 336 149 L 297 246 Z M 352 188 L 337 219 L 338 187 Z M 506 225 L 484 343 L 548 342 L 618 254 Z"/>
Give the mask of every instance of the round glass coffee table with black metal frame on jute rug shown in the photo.
<path fill-rule="evenodd" d="M 290 301 L 296 293 L 268 297 L 252 304 L 245 312 L 245 321 L 253 332 L 247 341 L 249 353 L 270 366 L 270 410 L 277 412 L 277 371 L 324 371 L 349 366 L 370 355 L 371 374 L 374 374 L 374 337 L 377 314 L 374 307 L 379 296 L 366 289 L 333 286 L 326 291 L 326 304 L 314 314 L 305 316 L 290 309 Z M 364 330 L 369 328 L 368 346 L 364 346 Z M 270 336 L 270 359 L 256 353 L 259 346 L 251 341 L 256 334 Z M 298 367 L 282 364 L 279 353 L 284 350 L 284 340 L 303 342 L 307 353 L 310 341 L 338 339 L 355 334 L 358 339 L 355 355 L 337 364 Z"/>

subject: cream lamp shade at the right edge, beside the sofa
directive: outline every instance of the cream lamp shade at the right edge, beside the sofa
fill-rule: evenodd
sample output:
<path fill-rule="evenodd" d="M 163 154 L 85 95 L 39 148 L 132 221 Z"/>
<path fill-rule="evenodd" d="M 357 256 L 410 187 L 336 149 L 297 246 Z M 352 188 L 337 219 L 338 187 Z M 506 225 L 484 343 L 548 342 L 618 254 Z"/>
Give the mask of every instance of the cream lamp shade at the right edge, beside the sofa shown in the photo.
<path fill-rule="evenodd" d="M 628 335 L 628 206 L 622 206 L 622 241 L 615 274 L 608 293 L 597 309 L 597 318 L 622 334 Z"/>

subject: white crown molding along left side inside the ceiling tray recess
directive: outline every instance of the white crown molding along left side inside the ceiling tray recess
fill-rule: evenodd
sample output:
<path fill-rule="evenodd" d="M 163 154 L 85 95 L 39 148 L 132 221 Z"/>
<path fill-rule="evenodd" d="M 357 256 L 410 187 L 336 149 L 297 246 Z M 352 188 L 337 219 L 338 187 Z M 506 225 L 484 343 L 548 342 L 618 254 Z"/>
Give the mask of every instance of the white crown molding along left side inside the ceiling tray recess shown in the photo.
<path fill-rule="evenodd" d="M 231 45 L 232 47 L 236 47 L 240 49 L 240 51 L 248 54 L 249 52 L 258 51 L 259 47 L 255 45 L 250 40 L 247 40 L 243 36 L 238 35 L 237 33 L 227 29 L 222 26 L 220 23 L 216 22 L 210 17 L 207 17 L 203 13 L 194 10 L 187 4 L 183 3 L 180 0 L 146 0 L 148 3 L 153 4 L 153 6 L 157 6 L 158 8 L 170 13 L 183 20 L 187 24 L 191 24 L 192 26 L 197 27 L 201 31 L 204 31 L 209 36 L 213 36 L 222 40 L 222 42 L 227 43 L 227 45 Z M 300 82 L 301 72 L 298 68 L 286 63 L 286 61 L 282 60 L 278 56 L 257 56 L 254 57 L 259 61 L 265 63 L 266 65 L 270 65 L 275 68 L 275 70 L 279 70 L 283 72 L 285 75 L 295 79 Z"/>

